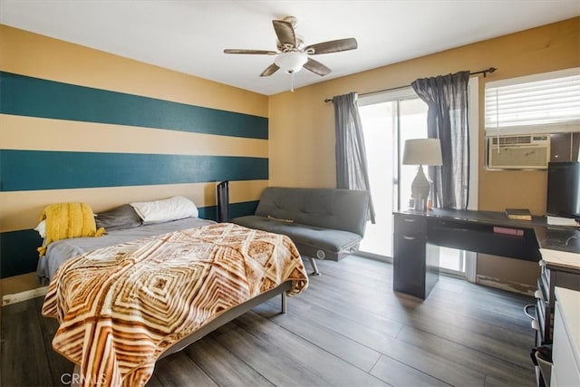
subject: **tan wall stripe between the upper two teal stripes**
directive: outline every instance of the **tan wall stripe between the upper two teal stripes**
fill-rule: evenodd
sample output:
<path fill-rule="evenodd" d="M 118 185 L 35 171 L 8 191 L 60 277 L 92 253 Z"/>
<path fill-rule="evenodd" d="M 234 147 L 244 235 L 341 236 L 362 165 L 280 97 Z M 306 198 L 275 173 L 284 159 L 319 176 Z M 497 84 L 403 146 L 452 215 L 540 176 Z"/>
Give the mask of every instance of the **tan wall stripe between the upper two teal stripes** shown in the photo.
<path fill-rule="evenodd" d="M 7 150 L 268 157 L 268 140 L 0 114 Z"/>

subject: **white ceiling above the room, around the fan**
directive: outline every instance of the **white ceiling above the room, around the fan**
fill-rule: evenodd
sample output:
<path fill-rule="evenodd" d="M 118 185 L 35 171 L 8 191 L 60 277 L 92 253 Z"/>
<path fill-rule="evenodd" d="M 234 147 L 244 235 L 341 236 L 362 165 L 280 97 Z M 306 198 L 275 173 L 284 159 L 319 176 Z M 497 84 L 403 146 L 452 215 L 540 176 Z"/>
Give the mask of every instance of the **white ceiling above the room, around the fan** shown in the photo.
<path fill-rule="evenodd" d="M 283 72 L 258 76 L 274 58 L 223 50 L 275 51 L 271 20 L 286 15 L 305 44 L 359 44 L 316 55 L 333 72 L 295 73 L 297 88 L 565 20 L 580 0 L 0 0 L 1 24 L 266 95 L 290 86 Z"/>

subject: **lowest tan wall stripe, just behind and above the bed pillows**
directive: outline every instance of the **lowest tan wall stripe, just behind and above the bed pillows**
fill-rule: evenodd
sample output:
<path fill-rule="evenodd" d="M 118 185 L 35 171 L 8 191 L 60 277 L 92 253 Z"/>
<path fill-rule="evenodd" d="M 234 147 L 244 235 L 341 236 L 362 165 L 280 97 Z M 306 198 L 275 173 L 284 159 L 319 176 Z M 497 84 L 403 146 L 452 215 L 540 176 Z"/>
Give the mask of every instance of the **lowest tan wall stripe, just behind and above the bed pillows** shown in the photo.
<path fill-rule="evenodd" d="M 0 232 L 36 227 L 43 208 L 59 202 L 86 202 L 93 212 L 99 213 L 131 201 L 183 196 L 193 200 L 198 208 L 209 208 L 217 204 L 217 185 L 218 181 L 159 186 L 0 192 Z M 237 203 L 255 201 L 260 198 L 267 186 L 268 180 L 230 180 L 229 202 L 234 206 Z"/>

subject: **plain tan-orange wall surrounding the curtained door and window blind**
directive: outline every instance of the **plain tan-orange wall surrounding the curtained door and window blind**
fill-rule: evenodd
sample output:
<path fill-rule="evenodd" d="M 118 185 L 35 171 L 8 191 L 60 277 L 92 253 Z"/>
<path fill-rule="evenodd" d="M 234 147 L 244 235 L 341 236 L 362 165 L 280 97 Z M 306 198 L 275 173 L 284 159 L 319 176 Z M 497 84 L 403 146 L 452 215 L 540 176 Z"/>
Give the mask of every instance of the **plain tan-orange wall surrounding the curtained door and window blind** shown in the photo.
<path fill-rule="evenodd" d="M 580 17 L 271 96 L 270 185 L 335 186 L 333 105 L 325 98 L 490 66 L 498 71 L 479 80 L 479 208 L 526 207 L 543 214 L 545 171 L 484 169 L 483 90 L 487 81 L 580 66 Z"/>

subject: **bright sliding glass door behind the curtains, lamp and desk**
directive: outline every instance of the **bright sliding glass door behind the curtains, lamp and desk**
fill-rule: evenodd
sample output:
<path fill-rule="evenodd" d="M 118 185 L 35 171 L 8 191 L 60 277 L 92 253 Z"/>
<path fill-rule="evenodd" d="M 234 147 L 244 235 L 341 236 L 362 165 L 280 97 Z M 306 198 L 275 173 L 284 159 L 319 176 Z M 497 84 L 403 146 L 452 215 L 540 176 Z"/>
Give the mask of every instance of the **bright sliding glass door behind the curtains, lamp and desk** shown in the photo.
<path fill-rule="evenodd" d="M 477 85 L 474 92 L 477 98 Z M 408 208 L 411 182 L 417 174 L 417 166 L 402 165 L 402 150 L 405 140 L 427 137 L 428 108 L 411 88 L 361 97 L 358 103 L 376 210 L 376 224 L 367 224 L 360 250 L 388 259 L 392 256 L 392 212 Z M 473 125 L 477 147 L 477 116 Z M 471 160 L 475 163 L 472 177 L 477 179 L 477 150 L 472 151 Z M 471 187 L 477 188 L 477 182 Z M 477 197 L 473 200 L 477 203 Z M 441 247 L 441 270 L 465 276 L 466 256 L 463 251 Z"/>

